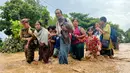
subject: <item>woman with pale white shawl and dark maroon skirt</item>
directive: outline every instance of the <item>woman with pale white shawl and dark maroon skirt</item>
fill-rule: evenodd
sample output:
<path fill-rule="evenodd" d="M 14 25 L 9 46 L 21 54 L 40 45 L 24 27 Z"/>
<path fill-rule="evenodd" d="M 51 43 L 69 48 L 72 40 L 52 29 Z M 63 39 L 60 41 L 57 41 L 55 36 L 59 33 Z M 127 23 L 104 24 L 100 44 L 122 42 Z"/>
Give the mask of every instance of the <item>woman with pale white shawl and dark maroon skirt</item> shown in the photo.
<path fill-rule="evenodd" d="M 47 29 L 41 26 L 41 22 L 37 21 L 35 24 L 35 35 L 39 42 L 39 61 L 43 60 L 45 63 L 49 61 L 48 35 Z"/>

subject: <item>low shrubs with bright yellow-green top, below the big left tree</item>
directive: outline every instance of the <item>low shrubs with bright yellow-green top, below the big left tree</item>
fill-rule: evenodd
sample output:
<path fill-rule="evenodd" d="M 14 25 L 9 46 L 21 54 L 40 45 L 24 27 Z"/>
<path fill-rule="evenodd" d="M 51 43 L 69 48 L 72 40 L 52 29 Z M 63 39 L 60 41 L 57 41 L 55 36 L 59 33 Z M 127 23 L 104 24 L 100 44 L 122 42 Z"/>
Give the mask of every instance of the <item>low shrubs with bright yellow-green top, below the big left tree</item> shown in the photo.
<path fill-rule="evenodd" d="M 11 31 L 12 35 L 8 37 L 2 44 L 0 52 L 3 53 L 14 53 L 14 52 L 20 52 L 23 51 L 23 41 L 20 41 L 20 30 L 22 29 L 22 26 L 20 24 L 20 21 L 11 20 Z"/>

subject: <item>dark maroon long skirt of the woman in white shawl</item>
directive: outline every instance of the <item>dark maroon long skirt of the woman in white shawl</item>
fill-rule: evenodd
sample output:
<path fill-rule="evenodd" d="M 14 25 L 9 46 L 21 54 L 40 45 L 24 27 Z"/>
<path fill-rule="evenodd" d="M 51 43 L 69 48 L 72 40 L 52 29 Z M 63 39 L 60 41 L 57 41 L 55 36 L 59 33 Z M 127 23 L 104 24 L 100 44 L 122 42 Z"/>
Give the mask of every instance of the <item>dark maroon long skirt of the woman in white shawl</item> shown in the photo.
<path fill-rule="evenodd" d="M 46 45 L 39 46 L 39 61 L 43 60 L 45 63 L 48 63 L 49 60 L 49 48 Z"/>

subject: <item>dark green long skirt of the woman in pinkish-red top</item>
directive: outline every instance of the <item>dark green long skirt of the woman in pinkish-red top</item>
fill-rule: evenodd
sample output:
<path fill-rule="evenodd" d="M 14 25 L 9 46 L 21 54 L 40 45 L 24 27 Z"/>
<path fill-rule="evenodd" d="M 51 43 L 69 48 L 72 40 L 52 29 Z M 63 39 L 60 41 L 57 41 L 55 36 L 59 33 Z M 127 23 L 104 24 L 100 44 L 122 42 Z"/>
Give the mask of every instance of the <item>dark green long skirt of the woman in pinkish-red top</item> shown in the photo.
<path fill-rule="evenodd" d="M 72 44 L 71 54 L 74 59 L 81 60 L 84 57 L 84 43 Z"/>

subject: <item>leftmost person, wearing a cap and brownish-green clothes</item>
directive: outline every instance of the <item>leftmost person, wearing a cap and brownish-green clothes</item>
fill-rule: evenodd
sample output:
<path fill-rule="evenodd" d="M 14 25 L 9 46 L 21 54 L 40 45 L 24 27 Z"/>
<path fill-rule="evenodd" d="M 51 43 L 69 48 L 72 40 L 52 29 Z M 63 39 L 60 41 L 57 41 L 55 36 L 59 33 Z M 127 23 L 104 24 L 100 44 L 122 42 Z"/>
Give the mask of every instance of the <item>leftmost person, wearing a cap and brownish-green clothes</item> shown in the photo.
<path fill-rule="evenodd" d="M 38 42 L 33 34 L 34 29 L 29 25 L 29 19 L 24 18 L 21 20 L 21 23 L 24 28 L 21 30 L 20 37 L 25 42 L 24 52 L 26 60 L 28 63 L 31 63 L 34 60 L 34 51 L 37 48 Z"/>

